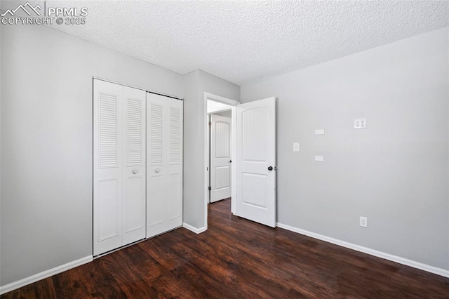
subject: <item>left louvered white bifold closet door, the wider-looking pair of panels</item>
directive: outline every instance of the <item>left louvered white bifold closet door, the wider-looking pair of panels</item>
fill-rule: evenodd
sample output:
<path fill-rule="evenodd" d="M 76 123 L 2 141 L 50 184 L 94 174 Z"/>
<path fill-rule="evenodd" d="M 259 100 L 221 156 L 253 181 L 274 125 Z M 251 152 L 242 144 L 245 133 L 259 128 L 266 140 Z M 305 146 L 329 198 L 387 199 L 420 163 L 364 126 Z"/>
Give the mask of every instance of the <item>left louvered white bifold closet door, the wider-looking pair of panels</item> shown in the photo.
<path fill-rule="evenodd" d="M 145 238 L 145 91 L 94 79 L 93 255 Z"/>

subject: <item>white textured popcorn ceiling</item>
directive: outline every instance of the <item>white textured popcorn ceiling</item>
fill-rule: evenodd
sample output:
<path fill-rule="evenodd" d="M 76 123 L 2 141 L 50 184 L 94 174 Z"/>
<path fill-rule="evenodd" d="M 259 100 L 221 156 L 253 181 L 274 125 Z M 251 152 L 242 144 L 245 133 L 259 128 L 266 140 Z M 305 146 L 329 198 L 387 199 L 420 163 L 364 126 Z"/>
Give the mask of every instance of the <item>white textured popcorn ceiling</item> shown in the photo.
<path fill-rule="evenodd" d="M 239 85 L 449 26 L 448 1 L 46 1 L 46 6 L 88 8 L 86 25 L 52 25 L 63 32 L 181 74 L 203 69 Z"/>

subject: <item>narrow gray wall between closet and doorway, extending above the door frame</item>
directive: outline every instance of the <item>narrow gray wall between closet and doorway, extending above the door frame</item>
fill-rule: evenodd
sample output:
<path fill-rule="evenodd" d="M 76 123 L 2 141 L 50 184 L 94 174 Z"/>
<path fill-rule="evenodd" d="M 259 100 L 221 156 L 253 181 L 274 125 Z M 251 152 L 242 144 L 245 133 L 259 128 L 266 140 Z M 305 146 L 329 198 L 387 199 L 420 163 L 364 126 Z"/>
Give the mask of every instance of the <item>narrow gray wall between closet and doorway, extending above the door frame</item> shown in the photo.
<path fill-rule="evenodd" d="M 184 222 L 201 229 L 204 219 L 204 93 L 240 100 L 240 87 L 197 69 L 186 75 L 184 114 L 191 118 L 184 126 Z M 188 171 L 188 172 L 187 172 Z"/>

